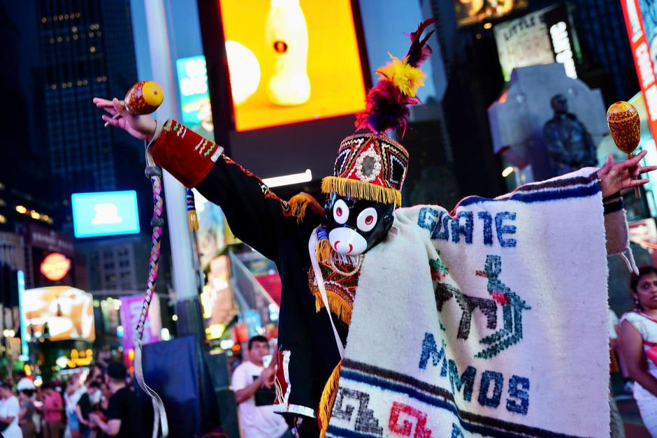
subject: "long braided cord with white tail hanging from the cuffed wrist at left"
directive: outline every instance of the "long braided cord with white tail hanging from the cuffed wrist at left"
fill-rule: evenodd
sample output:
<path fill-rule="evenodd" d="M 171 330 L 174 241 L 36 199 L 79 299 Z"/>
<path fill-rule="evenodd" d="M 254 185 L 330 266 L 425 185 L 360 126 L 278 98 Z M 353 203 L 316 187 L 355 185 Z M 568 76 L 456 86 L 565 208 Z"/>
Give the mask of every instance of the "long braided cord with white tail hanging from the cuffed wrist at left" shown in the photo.
<path fill-rule="evenodd" d="M 150 225 L 153 228 L 151 234 L 151 247 L 150 247 L 150 261 L 148 263 L 148 279 L 146 282 L 146 291 L 144 294 L 144 304 L 139 314 L 137 326 L 134 335 L 135 345 L 135 379 L 139 386 L 147 393 L 153 404 L 154 418 L 153 418 L 153 432 L 152 437 L 157 438 L 158 423 L 161 427 L 162 437 L 168 436 L 168 423 L 166 420 L 166 411 L 164 410 L 164 403 L 157 393 L 150 388 L 144 381 L 142 369 L 142 351 L 141 344 L 144 335 L 144 327 L 148 317 L 148 309 L 150 302 L 155 293 L 155 280 L 157 279 L 157 268 L 159 265 L 160 244 L 162 239 L 162 226 L 164 226 L 164 219 L 162 219 L 162 210 L 164 200 L 162 199 L 162 171 L 157 166 L 148 166 L 146 168 L 146 176 L 150 178 L 153 187 L 153 217 L 150 220 Z"/>

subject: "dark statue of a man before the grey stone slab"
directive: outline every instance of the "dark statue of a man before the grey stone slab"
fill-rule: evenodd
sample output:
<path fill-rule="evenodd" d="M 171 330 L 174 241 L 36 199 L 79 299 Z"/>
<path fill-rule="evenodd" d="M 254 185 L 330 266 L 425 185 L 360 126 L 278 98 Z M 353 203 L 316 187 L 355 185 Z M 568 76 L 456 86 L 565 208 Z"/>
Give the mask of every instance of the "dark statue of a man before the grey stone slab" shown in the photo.
<path fill-rule="evenodd" d="M 554 117 L 543 126 L 543 138 L 550 154 L 550 164 L 556 175 L 563 175 L 586 166 L 598 166 L 593 139 L 577 116 L 568 112 L 563 94 L 551 98 Z"/>

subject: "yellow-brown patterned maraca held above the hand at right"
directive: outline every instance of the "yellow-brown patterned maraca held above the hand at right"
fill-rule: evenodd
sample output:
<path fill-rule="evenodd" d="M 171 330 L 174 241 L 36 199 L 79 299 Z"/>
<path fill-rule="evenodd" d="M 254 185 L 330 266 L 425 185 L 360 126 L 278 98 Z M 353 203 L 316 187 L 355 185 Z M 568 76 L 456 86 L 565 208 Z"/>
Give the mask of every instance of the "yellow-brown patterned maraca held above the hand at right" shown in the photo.
<path fill-rule="evenodd" d="M 632 158 L 632 152 L 641 141 L 641 120 L 639 112 L 629 102 L 616 102 L 607 110 L 607 124 L 614 143 L 621 152 Z M 637 198 L 641 197 L 639 187 L 634 188 Z"/>

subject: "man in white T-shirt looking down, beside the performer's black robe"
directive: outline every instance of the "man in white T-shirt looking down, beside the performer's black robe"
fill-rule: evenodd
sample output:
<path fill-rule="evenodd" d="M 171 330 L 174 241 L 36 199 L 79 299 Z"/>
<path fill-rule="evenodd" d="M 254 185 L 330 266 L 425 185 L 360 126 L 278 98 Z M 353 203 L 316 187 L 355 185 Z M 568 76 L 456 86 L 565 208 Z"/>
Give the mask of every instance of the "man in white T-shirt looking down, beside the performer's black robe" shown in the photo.
<path fill-rule="evenodd" d="M 266 337 L 249 340 L 249 360 L 233 372 L 232 386 L 240 409 L 244 438 L 291 437 L 282 416 L 274 414 L 275 393 L 271 385 L 273 367 L 264 367 L 262 358 L 269 354 Z"/>

